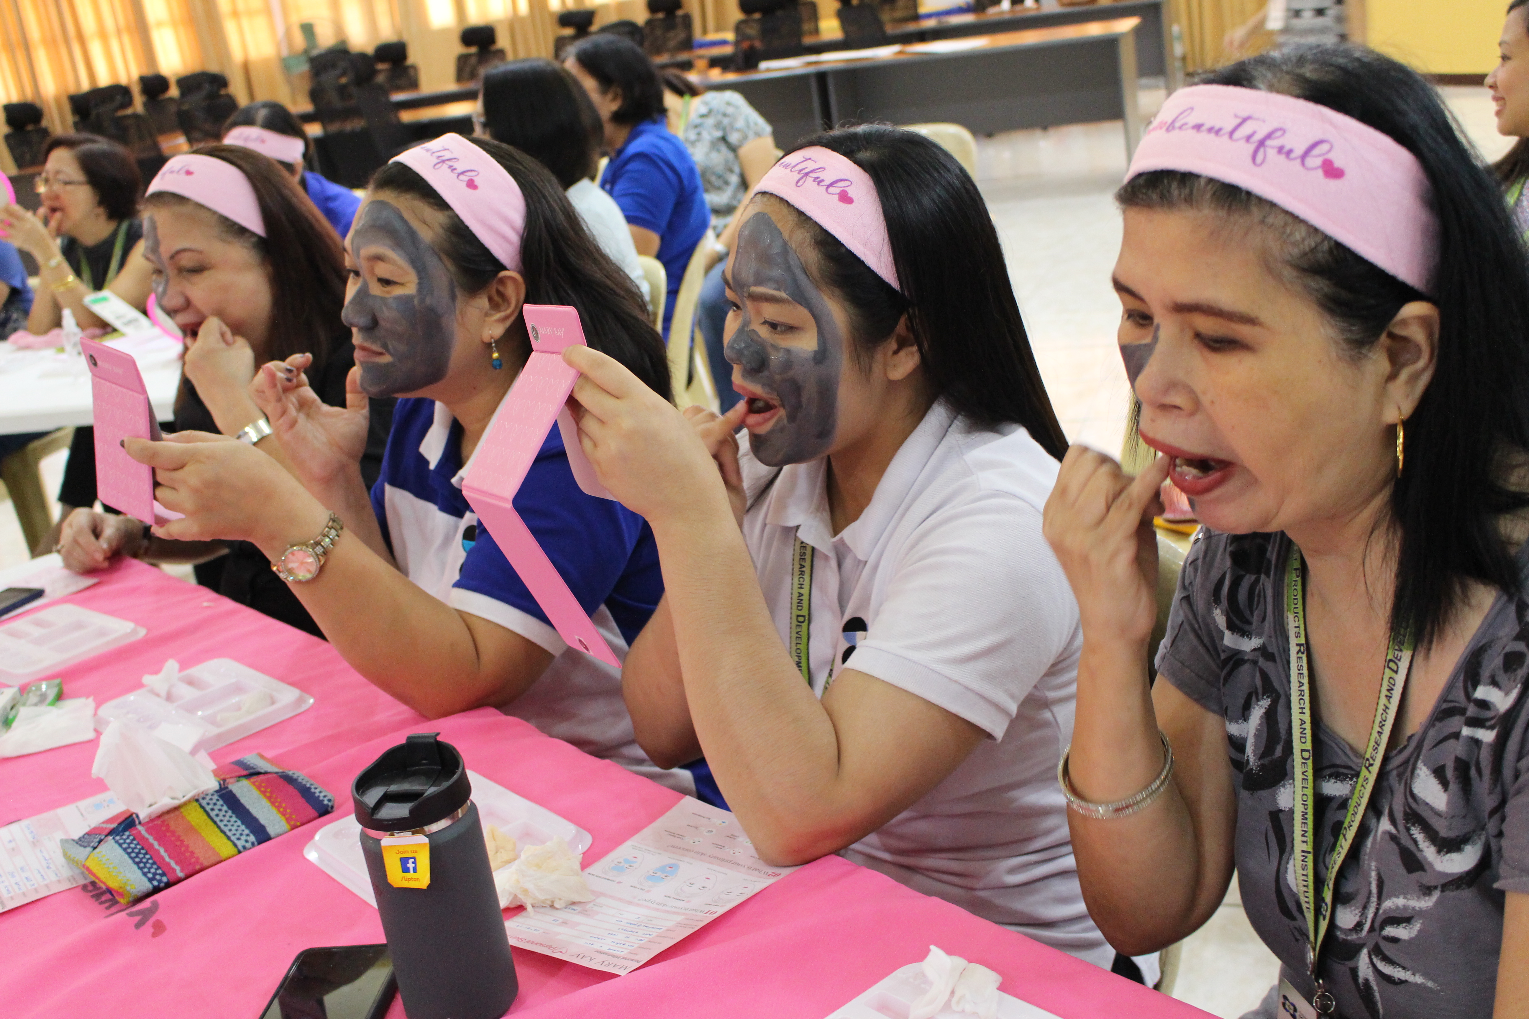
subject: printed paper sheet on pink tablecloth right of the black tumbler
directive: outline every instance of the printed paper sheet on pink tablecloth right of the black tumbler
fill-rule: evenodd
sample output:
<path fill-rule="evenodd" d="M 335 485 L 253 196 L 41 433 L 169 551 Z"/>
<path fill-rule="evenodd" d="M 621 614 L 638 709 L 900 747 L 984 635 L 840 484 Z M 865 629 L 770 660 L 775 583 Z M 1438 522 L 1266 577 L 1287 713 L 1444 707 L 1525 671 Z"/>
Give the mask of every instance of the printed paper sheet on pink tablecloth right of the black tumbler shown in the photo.
<path fill-rule="evenodd" d="M 524 911 L 509 943 L 607 973 L 630 973 L 794 866 L 754 854 L 737 817 L 687 796 L 584 871 L 595 898 Z"/>

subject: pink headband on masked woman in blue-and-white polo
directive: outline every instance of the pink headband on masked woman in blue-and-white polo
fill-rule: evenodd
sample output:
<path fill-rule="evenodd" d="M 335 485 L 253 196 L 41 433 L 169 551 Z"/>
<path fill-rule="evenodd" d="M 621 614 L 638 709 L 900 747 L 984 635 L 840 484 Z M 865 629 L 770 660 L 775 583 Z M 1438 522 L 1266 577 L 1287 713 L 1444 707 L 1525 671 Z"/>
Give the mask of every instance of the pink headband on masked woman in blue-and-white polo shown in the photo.
<path fill-rule="evenodd" d="M 393 162 L 424 177 L 506 269 L 520 272 L 526 196 L 497 159 L 460 134 L 442 134 Z"/>

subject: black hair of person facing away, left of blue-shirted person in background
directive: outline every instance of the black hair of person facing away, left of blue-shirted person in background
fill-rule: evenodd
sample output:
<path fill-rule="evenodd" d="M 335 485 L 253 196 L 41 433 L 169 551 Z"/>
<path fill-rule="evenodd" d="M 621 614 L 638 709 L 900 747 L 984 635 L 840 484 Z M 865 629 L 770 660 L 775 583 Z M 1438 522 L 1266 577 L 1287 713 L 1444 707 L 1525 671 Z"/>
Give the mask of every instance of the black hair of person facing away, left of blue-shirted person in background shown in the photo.
<path fill-rule="evenodd" d="M 526 153 L 563 188 L 593 177 L 602 128 L 584 86 L 544 57 L 512 60 L 483 73 L 483 127 Z"/>

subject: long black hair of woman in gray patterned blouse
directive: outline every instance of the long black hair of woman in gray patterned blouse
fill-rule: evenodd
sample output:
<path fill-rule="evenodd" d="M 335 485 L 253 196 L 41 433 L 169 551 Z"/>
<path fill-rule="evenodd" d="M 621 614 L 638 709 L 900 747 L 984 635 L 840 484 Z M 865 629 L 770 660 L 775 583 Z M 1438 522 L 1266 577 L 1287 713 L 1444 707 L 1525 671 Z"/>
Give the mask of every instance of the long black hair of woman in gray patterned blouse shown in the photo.
<path fill-rule="evenodd" d="M 1428 646 L 1466 581 L 1521 590 L 1500 518 L 1529 506 L 1529 261 L 1491 174 L 1456 133 L 1433 87 L 1394 60 L 1350 46 L 1298 46 L 1211 72 L 1202 84 L 1278 92 L 1338 110 L 1404 145 L 1433 191 L 1439 252 L 1430 295 L 1242 188 L 1177 171 L 1116 192 L 1124 208 L 1199 208 L 1246 217 L 1274 237 L 1284 269 L 1344 350 L 1367 356 L 1408 301 L 1439 309 L 1433 380 L 1407 419 L 1405 472 L 1391 487 L 1401 541 L 1391 626 Z"/>

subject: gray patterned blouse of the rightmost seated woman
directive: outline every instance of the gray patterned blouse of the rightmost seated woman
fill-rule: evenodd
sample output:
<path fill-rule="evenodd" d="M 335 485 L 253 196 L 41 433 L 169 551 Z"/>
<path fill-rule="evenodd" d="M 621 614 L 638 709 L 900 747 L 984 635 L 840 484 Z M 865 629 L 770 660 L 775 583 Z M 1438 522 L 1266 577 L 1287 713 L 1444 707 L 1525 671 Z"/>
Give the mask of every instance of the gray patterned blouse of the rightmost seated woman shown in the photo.
<path fill-rule="evenodd" d="M 1226 721 L 1243 907 L 1309 1001 L 1306 918 L 1290 863 L 1287 550 L 1284 535 L 1202 530 L 1157 668 Z M 1518 564 L 1529 574 L 1529 555 Z M 1529 600 L 1498 596 L 1433 715 L 1385 755 L 1338 872 L 1321 956 L 1339 1016 L 1492 1014 L 1503 897 L 1529 892 L 1526 672 Z M 1359 755 L 1318 724 L 1318 880 L 1358 767 Z"/>

